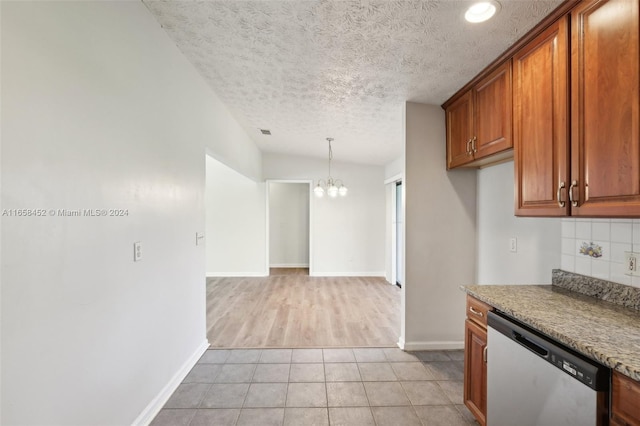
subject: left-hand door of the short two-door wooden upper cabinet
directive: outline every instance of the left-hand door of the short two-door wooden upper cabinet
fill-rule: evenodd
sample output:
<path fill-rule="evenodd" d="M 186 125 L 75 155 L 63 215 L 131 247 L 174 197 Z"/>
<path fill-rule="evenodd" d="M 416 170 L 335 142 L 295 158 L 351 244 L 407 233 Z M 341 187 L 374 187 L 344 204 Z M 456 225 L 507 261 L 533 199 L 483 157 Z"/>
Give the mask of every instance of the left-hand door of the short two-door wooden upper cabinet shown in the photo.
<path fill-rule="evenodd" d="M 473 103 L 471 91 L 447 107 L 447 169 L 473 161 L 471 139 L 473 137 Z"/>

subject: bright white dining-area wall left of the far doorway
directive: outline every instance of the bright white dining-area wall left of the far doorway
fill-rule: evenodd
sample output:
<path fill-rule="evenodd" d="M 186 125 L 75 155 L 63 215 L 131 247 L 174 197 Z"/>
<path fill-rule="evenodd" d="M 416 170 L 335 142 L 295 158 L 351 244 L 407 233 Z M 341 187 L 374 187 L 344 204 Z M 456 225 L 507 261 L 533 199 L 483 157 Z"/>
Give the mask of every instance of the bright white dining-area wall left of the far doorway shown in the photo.
<path fill-rule="evenodd" d="M 264 276 L 266 185 L 207 156 L 207 276 Z"/>

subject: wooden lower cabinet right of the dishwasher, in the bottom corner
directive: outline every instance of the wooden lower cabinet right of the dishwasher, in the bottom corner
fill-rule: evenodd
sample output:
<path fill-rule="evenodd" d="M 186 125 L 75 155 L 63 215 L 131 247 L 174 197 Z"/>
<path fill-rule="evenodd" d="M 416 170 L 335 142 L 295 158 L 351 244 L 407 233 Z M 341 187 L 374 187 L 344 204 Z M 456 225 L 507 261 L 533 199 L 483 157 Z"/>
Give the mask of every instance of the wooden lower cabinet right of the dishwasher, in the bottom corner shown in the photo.
<path fill-rule="evenodd" d="M 640 426 L 640 383 L 617 371 L 611 378 L 611 423 Z"/>

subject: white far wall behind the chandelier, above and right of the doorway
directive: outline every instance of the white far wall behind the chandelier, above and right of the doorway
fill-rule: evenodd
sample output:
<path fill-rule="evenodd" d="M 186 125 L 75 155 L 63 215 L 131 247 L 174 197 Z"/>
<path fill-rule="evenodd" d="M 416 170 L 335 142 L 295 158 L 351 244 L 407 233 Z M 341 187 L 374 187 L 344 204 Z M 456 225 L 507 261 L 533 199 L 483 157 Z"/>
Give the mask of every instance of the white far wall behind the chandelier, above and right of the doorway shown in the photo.
<path fill-rule="evenodd" d="M 339 149 L 335 151 L 340 156 Z M 327 160 L 263 155 L 265 179 L 326 178 Z M 384 167 L 332 162 L 334 178 L 349 188 L 345 198 L 311 200 L 312 274 L 374 275 L 385 271 Z"/>

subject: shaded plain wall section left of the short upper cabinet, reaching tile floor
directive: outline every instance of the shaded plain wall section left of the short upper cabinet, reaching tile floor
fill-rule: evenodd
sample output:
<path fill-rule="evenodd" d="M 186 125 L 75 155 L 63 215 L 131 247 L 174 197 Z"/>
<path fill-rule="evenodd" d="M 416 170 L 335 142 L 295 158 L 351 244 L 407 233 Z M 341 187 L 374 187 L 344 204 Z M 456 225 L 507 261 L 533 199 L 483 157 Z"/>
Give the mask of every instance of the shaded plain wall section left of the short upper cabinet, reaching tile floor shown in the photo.
<path fill-rule="evenodd" d="M 445 117 L 436 105 L 405 107 L 405 315 L 407 350 L 461 348 L 465 295 L 475 282 L 476 171 L 445 168 Z"/>

